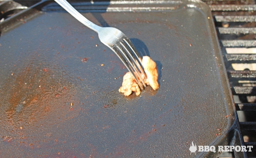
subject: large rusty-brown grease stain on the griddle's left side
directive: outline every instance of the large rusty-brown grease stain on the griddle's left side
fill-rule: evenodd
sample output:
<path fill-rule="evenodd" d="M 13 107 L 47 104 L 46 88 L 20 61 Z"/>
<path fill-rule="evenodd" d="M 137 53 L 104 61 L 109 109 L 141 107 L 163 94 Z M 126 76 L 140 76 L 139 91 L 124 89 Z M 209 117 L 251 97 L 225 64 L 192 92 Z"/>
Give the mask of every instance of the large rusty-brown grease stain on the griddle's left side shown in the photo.
<path fill-rule="evenodd" d="M 3 127 L 0 138 L 19 146 L 48 148 L 47 142 L 56 139 L 52 138 L 51 130 L 55 126 L 63 128 L 62 124 L 76 117 L 76 111 L 81 110 L 76 106 L 70 111 L 69 102 L 79 105 L 80 99 L 75 96 L 72 83 L 56 70 L 55 65 L 46 73 L 44 64 L 38 64 L 37 58 L 32 55 L 30 61 L 26 61 L 28 64 L 23 63 L 26 66 L 15 69 L 15 74 L 4 81 L 0 92 L 0 125 Z M 51 67 L 51 64 L 47 66 Z"/>

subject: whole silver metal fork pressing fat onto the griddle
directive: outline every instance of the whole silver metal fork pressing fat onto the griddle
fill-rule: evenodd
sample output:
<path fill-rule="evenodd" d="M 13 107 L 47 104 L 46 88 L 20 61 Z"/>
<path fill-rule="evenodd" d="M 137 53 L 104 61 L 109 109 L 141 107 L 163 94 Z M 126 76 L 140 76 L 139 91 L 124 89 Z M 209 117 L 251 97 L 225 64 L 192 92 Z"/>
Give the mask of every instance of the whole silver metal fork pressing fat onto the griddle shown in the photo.
<path fill-rule="evenodd" d="M 55 1 L 78 21 L 82 22 L 88 28 L 96 31 L 99 35 L 100 41 L 116 53 L 119 59 L 125 64 L 129 72 L 132 73 L 140 88 L 144 89 L 146 86 L 144 82 L 146 75 L 142 68 L 142 59 L 136 48 L 131 43 L 130 39 L 122 31 L 112 27 L 103 28 L 95 25 L 93 22 L 89 21 L 82 14 L 76 11 L 66 0 Z"/>

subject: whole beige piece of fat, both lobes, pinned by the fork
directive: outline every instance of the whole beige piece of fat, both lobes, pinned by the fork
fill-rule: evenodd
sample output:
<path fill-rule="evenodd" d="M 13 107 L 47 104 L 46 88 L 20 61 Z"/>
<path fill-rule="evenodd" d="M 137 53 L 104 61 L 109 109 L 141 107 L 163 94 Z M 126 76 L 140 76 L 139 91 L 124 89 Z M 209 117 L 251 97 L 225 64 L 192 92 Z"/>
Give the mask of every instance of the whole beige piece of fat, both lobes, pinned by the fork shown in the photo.
<path fill-rule="evenodd" d="M 147 78 L 144 79 L 144 82 L 147 85 L 150 85 L 154 90 L 158 89 L 159 84 L 157 81 L 158 72 L 156 63 L 150 57 L 144 56 L 142 58 L 142 66 L 147 76 Z M 137 96 L 140 95 L 140 87 L 130 72 L 124 75 L 123 83 L 119 89 L 119 92 L 124 93 L 125 96 L 129 96 L 132 92 L 135 92 Z"/>

